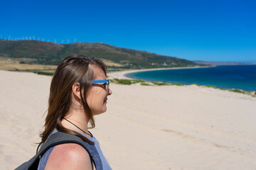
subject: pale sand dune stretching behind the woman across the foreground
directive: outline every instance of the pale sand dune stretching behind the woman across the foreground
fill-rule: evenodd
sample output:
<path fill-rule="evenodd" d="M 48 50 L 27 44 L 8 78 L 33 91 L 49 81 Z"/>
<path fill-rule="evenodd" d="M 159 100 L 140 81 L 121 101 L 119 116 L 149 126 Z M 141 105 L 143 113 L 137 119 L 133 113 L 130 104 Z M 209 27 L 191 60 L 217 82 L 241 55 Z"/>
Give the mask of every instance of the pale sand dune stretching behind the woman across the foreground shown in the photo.
<path fill-rule="evenodd" d="M 51 77 L 0 77 L 0 169 L 14 169 L 36 152 Z M 90 131 L 113 169 L 256 169 L 256 98 L 195 85 L 110 88 Z"/>

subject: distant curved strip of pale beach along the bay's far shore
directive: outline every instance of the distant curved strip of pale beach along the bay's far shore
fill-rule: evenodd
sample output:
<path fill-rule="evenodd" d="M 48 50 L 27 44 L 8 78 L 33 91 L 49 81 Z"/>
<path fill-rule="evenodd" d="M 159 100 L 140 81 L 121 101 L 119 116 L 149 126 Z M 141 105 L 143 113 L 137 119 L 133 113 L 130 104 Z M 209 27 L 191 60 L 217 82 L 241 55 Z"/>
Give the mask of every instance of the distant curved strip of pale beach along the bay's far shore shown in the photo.
<path fill-rule="evenodd" d="M 129 69 L 126 71 L 117 71 L 117 72 L 110 72 L 107 74 L 108 77 L 112 79 L 130 79 L 132 78 L 127 77 L 126 74 L 134 73 L 134 72 L 148 72 L 148 71 L 156 71 L 156 70 L 169 70 L 169 69 L 200 69 L 206 67 L 216 67 L 214 66 L 203 66 L 203 67 L 171 67 L 171 68 L 157 68 L 157 69 Z"/>

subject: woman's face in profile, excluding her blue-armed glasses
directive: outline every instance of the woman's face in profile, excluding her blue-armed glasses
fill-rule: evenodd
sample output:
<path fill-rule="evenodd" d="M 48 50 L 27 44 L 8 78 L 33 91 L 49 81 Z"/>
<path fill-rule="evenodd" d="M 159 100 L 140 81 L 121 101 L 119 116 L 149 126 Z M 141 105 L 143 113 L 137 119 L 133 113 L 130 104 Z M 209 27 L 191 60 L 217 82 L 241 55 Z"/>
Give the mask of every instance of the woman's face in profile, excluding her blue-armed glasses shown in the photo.
<path fill-rule="evenodd" d="M 93 65 L 91 67 L 95 74 L 94 80 L 105 80 L 107 78 L 100 67 Z M 107 91 L 100 86 L 92 86 L 90 88 L 90 90 L 87 92 L 86 101 L 90 107 L 90 110 L 92 111 L 92 115 L 99 115 L 100 113 L 107 111 L 107 96 L 110 96 L 111 94 L 111 90 L 109 93 L 107 93 Z"/>

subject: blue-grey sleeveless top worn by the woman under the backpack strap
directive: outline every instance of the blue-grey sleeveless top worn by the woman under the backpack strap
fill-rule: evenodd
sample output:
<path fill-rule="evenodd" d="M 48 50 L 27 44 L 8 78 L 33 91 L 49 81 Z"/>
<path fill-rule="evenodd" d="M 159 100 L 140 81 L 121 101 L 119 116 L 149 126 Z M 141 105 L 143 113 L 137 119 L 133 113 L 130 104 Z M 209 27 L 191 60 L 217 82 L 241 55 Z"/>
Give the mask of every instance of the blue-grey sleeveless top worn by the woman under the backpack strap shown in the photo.
<path fill-rule="evenodd" d="M 53 133 L 57 132 L 57 130 L 53 131 Z M 76 132 L 76 131 L 75 131 Z M 78 132 L 80 133 L 80 132 Z M 80 135 L 82 135 L 80 133 Z M 83 135 L 84 137 L 87 137 Z M 100 149 L 100 143 L 96 140 L 96 138 L 92 135 L 92 138 L 87 137 L 90 141 L 94 142 L 94 145 L 90 145 L 87 142 L 85 142 L 85 145 L 87 146 L 90 155 L 92 155 L 93 160 L 95 162 L 95 167 L 97 170 L 112 170 L 110 167 L 110 164 L 107 162 L 107 159 L 102 153 L 102 150 Z M 55 146 L 54 146 L 55 147 Z M 40 162 L 38 164 L 38 170 L 44 170 L 48 161 L 48 158 L 50 157 L 50 153 L 53 151 L 54 147 L 50 147 L 48 151 L 43 154 L 43 157 L 41 157 Z"/>

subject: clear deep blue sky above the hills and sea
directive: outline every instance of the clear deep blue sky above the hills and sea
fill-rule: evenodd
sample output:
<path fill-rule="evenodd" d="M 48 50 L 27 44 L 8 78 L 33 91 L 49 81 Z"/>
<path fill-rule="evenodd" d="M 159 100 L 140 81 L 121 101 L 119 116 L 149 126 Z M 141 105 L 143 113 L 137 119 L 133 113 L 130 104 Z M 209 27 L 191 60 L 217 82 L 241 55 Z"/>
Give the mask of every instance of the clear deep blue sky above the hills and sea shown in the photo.
<path fill-rule="evenodd" d="M 1 38 L 105 42 L 160 55 L 256 62 L 255 1 L 2 1 Z"/>

